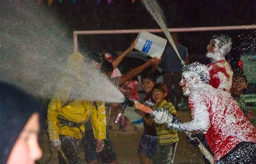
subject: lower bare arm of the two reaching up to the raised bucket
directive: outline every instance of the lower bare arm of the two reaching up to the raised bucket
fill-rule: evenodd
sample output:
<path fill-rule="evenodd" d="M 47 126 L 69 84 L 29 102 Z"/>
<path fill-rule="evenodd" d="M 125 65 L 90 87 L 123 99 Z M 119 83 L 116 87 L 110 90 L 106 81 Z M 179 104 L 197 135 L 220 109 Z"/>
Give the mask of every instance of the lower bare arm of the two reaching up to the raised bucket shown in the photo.
<path fill-rule="evenodd" d="M 140 74 L 143 70 L 145 70 L 150 65 L 153 65 L 153 67 L 157 67 L 158 63 L 160 62 L 159 58 L 153 57 L 148 62 L 144 63 L 143 65 L 133 69 L 131 72 L 126 73 L 125 75 L 120 77 L 120 83 L 119 85 L 124 84 L 126 81 L 130 80 L 131 78 L 137 76 Z"/>

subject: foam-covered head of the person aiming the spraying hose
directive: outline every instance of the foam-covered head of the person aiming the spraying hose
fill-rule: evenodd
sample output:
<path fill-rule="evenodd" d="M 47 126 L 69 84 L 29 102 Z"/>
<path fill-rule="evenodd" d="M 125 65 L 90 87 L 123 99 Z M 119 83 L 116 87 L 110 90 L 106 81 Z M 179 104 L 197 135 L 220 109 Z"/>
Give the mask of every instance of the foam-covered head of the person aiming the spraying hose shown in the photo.
<path fill-rule="evenodd" d="M 195 62 L 182 68 L 180 85 L 184 96 L 189 96 L 195 86 L 209 84 L 209 81 L 210 74 L 206 65 Z"/>

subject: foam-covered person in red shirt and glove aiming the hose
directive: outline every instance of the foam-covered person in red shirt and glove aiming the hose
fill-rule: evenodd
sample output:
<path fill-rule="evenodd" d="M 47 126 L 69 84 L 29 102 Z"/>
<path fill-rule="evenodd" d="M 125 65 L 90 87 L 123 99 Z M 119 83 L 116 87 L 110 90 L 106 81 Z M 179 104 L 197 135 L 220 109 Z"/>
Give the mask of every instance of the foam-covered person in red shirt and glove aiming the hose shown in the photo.
<path fill-rule="evenodd" d="M 181 123 L 159 109 L 155 122 L 182 132 L 205 133 L 216 164 L 255 164 L 256 129 L 230 93 L 213 88 L 209 81 L 205 65 L 185 66 L 180 85 L 184 96 L 189 97 L 192 121 Z"/>

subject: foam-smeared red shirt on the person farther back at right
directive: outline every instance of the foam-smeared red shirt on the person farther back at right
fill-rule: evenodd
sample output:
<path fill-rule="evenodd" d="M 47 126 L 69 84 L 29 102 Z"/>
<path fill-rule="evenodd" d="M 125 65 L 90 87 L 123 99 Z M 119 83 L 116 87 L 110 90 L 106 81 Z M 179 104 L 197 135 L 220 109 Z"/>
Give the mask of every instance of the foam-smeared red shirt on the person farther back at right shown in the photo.
<path fill-rule="evenodd" d="M 216 89 L 230 92 L 232 87 L 233 71 L 226 60 L 219 60 L 207 65 L 210 73 L 209 84 Z"/>

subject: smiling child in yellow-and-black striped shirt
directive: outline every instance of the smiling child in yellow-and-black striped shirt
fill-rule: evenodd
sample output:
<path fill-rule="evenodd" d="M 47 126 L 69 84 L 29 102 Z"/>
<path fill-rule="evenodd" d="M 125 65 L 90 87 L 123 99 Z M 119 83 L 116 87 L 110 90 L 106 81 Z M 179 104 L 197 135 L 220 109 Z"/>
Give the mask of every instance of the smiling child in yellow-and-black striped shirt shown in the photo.
<path fill-rule="evenodd" d="M 163 83 L 156 83 L 152 97 L 155 101 L 153 110 L 163 108 L 168 110 L 168 113 L 176 115 L 175 106 L 166 101 L 168 89 Z M 153 159 L 154 164 L 173 164 L 176 148 L 178 146 L 178 133 L 176 130 L 169 129 L 166 125 L 158 124 L 155 122 L 156 135 L 158 137 L 158 151 Z"/>

